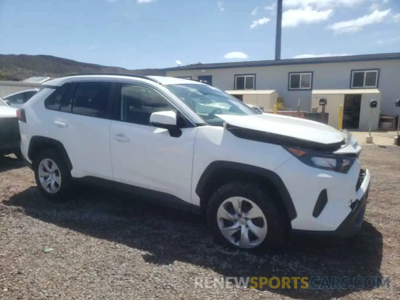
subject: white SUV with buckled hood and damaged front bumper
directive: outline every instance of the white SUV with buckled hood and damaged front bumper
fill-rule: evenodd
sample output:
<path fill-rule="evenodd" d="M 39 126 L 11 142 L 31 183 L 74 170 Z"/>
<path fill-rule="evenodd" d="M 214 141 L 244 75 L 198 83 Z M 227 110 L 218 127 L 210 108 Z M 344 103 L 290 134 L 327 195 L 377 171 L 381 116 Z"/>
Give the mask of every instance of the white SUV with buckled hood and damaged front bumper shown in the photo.
<path fill-rule="evenodd" d="M 276 250 L 292 230 L 358 231 L 370 172 L 346 131 L 257 114 L 195 80 L 86 74 L 18 110 L 23 159 L 48 198 L 74 181 L 204 213 L 217 241 Z"/>

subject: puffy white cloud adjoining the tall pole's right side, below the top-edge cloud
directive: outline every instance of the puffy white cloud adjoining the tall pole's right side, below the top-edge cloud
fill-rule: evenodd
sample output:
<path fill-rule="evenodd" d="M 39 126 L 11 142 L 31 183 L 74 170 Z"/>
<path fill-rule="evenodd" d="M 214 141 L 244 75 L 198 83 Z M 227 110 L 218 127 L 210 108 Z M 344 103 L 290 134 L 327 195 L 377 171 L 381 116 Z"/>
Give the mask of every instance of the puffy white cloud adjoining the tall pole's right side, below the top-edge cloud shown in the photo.
<path fill-rule="evenodd" d="M 311 6 L 299 9 L 290 9 L 282 15 L 282 27 L 296 27 L 300 24 L 317 23 L 328 20 L 333 10 L 314 10 Z"/>

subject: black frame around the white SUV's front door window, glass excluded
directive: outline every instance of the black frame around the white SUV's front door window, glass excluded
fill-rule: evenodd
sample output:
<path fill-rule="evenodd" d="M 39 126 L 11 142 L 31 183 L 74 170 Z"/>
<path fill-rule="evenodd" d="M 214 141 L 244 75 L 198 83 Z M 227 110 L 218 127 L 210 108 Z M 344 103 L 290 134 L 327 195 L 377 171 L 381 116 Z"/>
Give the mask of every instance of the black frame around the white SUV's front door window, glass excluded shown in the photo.
<path fill-rule="evenodd" d="M 122 88 L 122 84 L 138 85 L 138 86 L 143 86 L 144 88 L 148 88 L 150 90 L 153 90 L 154 92 L 159 94 L 166 102 L 168 102 L 172 107 L 174 107 L 174 109 L 176 110 L 176 113 L 178 115 L 178 118 L 182 118 L 183 122 L 185 124 L 185 126 L 182 127 L 182 128 L 194 128 L 194 127 L 197 127 L 196 124 L 194 124 L 192 122 L 192 120 L 190 120 L 190 118 L 188 118 L 188 116 L 186 116 L 186 114 L 184 114 L 184 112 L 182 112 L 178 108 L 178 106 L 176 106 L 176 104 L 174 104 L 166 96 L 164 96 L 162 93 L 160 93 L 158 90 L 156 90 L 152 86 L 149 86 L 147 84 L 143 84 L 142 82 L 127 82 L 127 81 L 118 81 L 117 82 L 115 90 L 114 90 L 114 93 L 113 93 L 114 104 L 113 104 L 113 108 L 112 108 L 112 119 L 114 121 L 140 125 L 140 124 L 130 123 L 130 122 L 126 122 L 126 121 L 122 121 L 121 120 L 121 112 L 122 112 L 122 107 L 121 107 L 121 104 L 122 104 L 122 102 L 121 102 L 121 100 L 122 100 L 121 99 L 121 88 Z"/>

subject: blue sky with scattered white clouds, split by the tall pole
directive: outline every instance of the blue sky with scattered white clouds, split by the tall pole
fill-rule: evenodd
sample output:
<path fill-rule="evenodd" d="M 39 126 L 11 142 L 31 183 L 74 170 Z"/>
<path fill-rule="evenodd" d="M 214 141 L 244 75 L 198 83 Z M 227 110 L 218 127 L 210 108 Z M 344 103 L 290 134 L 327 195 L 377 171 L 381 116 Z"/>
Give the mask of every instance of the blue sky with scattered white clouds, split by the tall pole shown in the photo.
<path fill-rule="evenodd" d="M 128 69 L 274 59 L 276 0 L 0 0 L 0 53 Z M 282 58 L 400 52 L 400 0 L 284 0 Z"/>

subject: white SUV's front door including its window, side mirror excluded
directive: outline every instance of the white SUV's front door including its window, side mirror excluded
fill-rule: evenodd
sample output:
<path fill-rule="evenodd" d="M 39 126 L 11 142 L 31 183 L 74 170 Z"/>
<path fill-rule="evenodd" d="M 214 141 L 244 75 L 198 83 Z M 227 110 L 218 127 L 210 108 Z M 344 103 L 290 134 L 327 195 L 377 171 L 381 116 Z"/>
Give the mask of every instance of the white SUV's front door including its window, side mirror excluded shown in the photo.
<path fill-rule="evenodd" d="M 164 96 L 139 84 L 122 83 L 118 90 L 118 113 L 110 130 L 114 181 L 164 201 L 191 203 L 197 128 L 182 128 L 180 137 L 172 137 L 168 130 L 150 125 L 153 112 L 176 110 Z"/>

